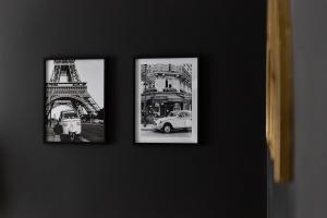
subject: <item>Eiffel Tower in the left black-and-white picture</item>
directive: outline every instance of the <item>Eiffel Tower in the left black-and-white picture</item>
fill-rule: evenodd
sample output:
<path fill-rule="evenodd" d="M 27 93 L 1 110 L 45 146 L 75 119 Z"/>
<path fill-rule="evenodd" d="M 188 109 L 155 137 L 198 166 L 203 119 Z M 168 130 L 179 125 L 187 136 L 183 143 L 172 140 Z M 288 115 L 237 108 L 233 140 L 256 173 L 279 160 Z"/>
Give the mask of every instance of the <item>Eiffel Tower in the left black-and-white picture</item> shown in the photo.
<path fill-rule="evenodd" d="M 80 80 L 75 60 L 55 60 L 50 81 L 46 84 L 46 116 L 58 106 L 74 108 L 80 114 L 84 110 L 97 116 L 100 107 L 90 97 L 85 82 Z M 84 109 L 84 110 L 83 110 Z"/>

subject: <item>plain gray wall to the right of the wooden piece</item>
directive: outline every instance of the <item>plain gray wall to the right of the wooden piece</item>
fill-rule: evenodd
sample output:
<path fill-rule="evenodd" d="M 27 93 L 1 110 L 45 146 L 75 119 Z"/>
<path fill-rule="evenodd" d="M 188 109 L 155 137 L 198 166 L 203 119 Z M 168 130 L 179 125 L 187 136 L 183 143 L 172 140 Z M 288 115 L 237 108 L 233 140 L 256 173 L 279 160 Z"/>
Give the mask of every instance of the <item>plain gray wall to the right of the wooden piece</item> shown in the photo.
<path fill-rule="evenodd" d="M 270 183 L 271 218 L 327 217 L 326 9 L 326 0 L 292 0 L 295 172 L 288 185 Z"/>

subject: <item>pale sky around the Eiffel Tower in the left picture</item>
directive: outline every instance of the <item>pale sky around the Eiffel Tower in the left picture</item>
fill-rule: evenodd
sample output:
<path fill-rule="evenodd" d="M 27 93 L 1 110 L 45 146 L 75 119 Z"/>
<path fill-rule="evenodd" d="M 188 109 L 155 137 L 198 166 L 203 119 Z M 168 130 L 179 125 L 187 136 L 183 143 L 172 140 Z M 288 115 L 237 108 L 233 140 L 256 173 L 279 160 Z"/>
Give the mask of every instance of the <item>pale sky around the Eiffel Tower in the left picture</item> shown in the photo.
<path fill-rule="evenodd" d="M 90 60 L 75 60 L 75 65 L 80 80 L 86 82 L 87 92 L 93 99 L 98 104 L 100 108 L 104 108 L 104 74 L 105 74 L 105 61 L 102 59 L 90 59 Z M 55 64 L 53 60 L 47 61 L 47 76 L 46 80 L 49 82 L 53 72 Z M 51 112 L 52 118 L 56 114 L 58 119 L 60 111 L 68 109 L 65 106 L 59 106 Z"/>

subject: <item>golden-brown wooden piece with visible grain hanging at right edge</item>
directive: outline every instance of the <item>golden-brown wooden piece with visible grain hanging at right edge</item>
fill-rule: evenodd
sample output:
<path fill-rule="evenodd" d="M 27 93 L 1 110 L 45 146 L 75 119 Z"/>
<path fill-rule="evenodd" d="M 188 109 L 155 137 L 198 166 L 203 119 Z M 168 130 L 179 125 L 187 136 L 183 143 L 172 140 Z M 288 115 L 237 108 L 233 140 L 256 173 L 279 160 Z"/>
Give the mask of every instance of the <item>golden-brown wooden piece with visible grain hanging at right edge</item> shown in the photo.
<path fill-rule="evenodd" d="M 266 137 L 274 179 L 292 179 L 292 56 L 290 3 L 268 0 L 266 68 Z"/>

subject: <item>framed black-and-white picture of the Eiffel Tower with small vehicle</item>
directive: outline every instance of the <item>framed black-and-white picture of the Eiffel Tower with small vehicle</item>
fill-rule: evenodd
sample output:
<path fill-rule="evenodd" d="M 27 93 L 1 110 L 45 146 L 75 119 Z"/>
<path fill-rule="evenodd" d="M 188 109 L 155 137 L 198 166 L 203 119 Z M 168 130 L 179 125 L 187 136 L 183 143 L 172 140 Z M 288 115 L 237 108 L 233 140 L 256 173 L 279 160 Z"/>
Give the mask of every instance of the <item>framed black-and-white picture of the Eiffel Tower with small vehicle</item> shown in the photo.
<path fill-rule="evenodd" d="M 105 58 L 45 60 L 45 143 L 105 143 Z"/>

